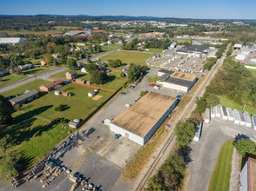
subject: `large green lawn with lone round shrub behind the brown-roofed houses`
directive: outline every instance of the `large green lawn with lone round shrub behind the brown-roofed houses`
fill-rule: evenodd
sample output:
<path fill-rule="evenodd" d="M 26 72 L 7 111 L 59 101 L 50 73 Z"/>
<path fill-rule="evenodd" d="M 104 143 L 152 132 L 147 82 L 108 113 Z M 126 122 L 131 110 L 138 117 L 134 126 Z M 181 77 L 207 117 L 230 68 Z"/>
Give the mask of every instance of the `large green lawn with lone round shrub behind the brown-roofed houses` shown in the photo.
<path fill-rule="evenodd" d="M 51 91 L 28 103 L 22 109 L 30 112 L 35 109 L 49 107 L 49 109 L 40 112 L 40 116 L 51 120 L 64 117 L 73 121 L 74 119 L 84 119 L 87 115 L 90 115 L 94 109 L 97 109 L 102 102 L 113 94 L 113 92 L 100 89 L 98 95 L 102 95 L 102 97 L 96 101 L 88 96 L 88 93 L 93 90 L 91 87 L 70 83 L 58 90 L 72 93 L 73 96 L 54 95 L 54 91 Z M 64 111 L 55 111 L 55 108 L 60 104 L 65 105 Z"/>

